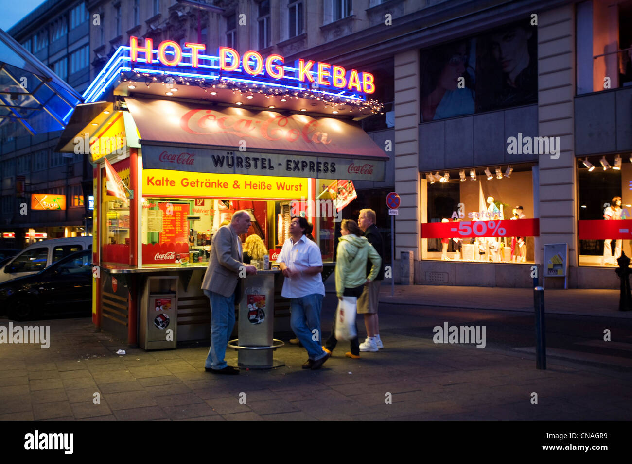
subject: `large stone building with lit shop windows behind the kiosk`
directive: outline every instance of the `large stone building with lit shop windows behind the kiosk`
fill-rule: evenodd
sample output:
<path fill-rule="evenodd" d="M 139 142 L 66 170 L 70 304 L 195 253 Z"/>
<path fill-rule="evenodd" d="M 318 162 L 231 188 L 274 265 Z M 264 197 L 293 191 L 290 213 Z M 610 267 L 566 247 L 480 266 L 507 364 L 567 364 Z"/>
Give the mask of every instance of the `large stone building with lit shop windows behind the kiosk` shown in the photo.
<path fill-rule="evenodd" d="M 615 260 L 632 254 L 632 227 L 618 222 L 632 217 L 631 1 L 95 0 L 85 8 L 90 80 L 132 36 L 374 73 L 384 114 L 360 124 L 391 160 L 384 182 L 356 185 L 344 215 L 372 207 L 386 230 L 384 198 L 397 191 L 395 255 L 412 252 L 413 282 L 529 287 L 535 272 L 550 277 L 547 287 L 564 285 L 564 273 L 569 287 L 618 285 Z"/>

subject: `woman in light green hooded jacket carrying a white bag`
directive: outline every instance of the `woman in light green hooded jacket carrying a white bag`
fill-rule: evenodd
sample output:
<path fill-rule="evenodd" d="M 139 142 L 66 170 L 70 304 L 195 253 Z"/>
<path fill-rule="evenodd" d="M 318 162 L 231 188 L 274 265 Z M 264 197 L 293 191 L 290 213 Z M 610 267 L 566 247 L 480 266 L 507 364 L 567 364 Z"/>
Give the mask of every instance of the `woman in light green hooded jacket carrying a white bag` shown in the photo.
<path fill-rule="evenodd" d="M 382 258 L 375 248 L 362 237 L 362 230 L 354 220 L 345 219 L 341 224 L 342 237 L 339 238 L 336 251 L 336 295 L 339 300 L 344 297 L 356 297 L 362 295 L 364 285 L 372 282 L 382 265 Z M 367 260 L 370 259 L 371 272 L 367 277 Z M 356 326 L 356 333 L 358 328 Z M 331 328 L 331 335 L 325 342 L 326 352 L 330 353 L 336 348 L 336 316 Z M 356 336 L 351 340 L 351 351 L 346 357 L 360 358 L 360 343 Z"/>

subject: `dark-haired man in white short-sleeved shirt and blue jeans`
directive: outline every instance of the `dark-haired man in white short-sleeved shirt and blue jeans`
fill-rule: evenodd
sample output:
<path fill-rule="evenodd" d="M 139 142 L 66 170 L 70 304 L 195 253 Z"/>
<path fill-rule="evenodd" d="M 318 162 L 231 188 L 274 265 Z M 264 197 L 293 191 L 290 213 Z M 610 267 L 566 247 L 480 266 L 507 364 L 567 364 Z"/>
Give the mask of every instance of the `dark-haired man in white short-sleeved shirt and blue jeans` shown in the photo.
<path fill-rule="evenodd" d="M 329 354 L 320 344 L 320 309 L 325 296 L 322 283 L 322 256 L 318 245 L 308 239 L 312 225 L 303 217 L 289 223 L 290 238 L 285 241 L 277 263 L 285 280 L 281 296 L 290 299 L 290 326 L 307 350 L 303 369 L 320 369 Z"/>

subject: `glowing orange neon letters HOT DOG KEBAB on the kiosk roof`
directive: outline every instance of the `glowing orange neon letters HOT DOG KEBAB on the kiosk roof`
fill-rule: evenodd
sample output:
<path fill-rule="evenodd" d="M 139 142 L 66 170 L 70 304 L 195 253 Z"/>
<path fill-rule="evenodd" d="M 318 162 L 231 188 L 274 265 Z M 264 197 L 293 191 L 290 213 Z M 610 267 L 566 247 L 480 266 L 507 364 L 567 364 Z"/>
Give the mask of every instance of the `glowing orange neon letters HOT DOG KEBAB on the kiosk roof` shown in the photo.
<path fill-rule="evenodd" d="M 145 45 L 138 45 L 138 37 L 130 37 L 130 60 L 138 62 L 139 54 L 143 54 L 147 64 L 161 63 L 164 66 L 175 68 L 186 64 L 191 68 L 200 67 L 200 54 L 204 51 L 204 44 L 186 42 L 185 48 L 190 52 L 183 53 L 182 47 L 173 40 L 164 40 L 154 50 L 152 39 L 145 39 Z M 351 92 L 374 93 L 375 77 L 373 74 L 356 69 L 347 70 L 342 66 L 327 62 L 305 61 L 298 59 L 295 66 L 284 64 L 284 57 L 271 54 L 264 57 L 255 51 L 247 51 L 240 56 L 239 52 L 230 47 L 219 47 L 219 69 L 228 73 L 244 73 L 246 76 L 258 76 L 264 74 L 275 80 L 283 79 L 290 74 L 301 83 L 317 83 L 322 86 L 346 90 Z"/>

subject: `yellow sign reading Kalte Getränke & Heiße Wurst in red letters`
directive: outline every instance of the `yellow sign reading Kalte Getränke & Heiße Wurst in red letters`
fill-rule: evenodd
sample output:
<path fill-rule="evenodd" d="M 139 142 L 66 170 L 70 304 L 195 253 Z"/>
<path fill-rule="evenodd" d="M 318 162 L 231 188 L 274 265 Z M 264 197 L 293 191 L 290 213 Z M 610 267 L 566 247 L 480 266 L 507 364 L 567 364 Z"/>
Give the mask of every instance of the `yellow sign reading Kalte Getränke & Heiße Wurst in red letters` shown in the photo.
<path fill-rule="evenodd" d="M 143 196 L 227 199 L 307 198 L 307 179 L 143 169 Z"/>

